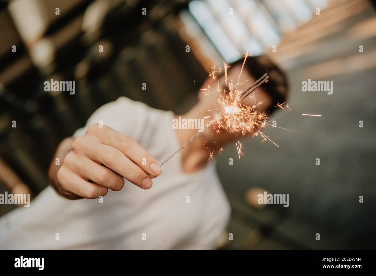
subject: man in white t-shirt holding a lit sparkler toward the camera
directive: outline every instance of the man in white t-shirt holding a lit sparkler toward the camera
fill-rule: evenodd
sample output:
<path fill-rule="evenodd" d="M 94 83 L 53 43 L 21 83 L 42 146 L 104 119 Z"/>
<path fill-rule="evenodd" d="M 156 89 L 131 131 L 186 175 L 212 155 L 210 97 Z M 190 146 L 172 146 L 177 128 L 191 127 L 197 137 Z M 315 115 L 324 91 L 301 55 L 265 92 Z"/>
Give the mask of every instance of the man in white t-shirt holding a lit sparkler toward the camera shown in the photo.
<path fill-rule="evenodd" d="M 242 63 L 228 70 L 234 83 Z M 262 101 L 260 111 L 284 102 L 284 73 L 265 56 L 248 57 L 239 81 L 244 90 L 267 70 L 269 83 L 254 92 Z M 203 86 L 217 83 L 208 78 Z M 215 115 L 208 111 L 215 109 L 215 95 L 199 95 L 182 118 Z M 235 135 L 209 128 L 169 160 L 162 173 L 159 163 L 197 132 L 173 129 L 176 117 L 125 97 L 100 107 L 56 150 L 49 178 L 59 195 L 48 187 L 29 208 L 3 216 L 0 248 L 215 248 L 230 207 L 203 144 L 226 145 Z"/>

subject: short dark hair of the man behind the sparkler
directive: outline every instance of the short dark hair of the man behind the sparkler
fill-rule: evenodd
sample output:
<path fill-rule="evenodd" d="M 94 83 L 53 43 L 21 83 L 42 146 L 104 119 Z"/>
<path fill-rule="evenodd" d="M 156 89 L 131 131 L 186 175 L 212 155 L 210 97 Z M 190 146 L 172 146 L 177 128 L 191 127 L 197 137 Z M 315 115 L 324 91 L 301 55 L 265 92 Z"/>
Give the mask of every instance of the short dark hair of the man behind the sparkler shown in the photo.
<path fill-rule="evenodd" d="M 231 63 L 231 66 L 242 65 L 244 59 L 239 59 L 236 62 Z M 244 69 L 247 69 L 250 74 L 257 80 L 266 72 L 269 75 L 268 83 L 262 84 L 261 88 L 271 98 L 272 104 L 268 107 L 267 112 L 273 112 L 277 103 L 284 103 L 287 98 L 289 86 L 287 76 L 274 62 L 272 62 L 267 56 L 250 56 L 247 57 Z"/>

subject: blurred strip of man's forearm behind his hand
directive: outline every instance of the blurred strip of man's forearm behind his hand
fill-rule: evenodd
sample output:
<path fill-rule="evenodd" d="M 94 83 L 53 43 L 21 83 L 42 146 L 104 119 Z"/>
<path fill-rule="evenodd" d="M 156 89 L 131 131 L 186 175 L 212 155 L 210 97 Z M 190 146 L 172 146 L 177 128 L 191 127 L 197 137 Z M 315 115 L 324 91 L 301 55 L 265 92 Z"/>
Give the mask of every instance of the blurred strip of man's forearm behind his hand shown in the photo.
<path fill-rule="evenodd" d="M 63 164 L 63 160 L 65 156 L 71 151 L 72 143 L 74 141 L 73 137 L 67 137 L 62 140 L 56 149 L 56 152 L 51 160 L 50 167 L 49 167 L 49 181 L 50 185 L 60 194 L 59 185 L 56 180 L 56 175 L 58 174 L 58 170 L 60 169 L 61 165 Z"/>

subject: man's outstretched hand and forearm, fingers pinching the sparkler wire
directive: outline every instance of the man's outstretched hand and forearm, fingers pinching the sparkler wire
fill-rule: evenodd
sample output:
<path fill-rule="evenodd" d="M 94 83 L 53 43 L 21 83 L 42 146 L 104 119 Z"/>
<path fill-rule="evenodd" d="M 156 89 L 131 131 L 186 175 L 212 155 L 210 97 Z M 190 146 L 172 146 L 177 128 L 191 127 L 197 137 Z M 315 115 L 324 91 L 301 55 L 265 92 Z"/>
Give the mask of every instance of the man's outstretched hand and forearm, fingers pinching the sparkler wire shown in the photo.
<path fill-rule="evenodd" d="M 64 159 L 60 167 L 55 158 Z M 65 198 L 92 199 L 105 196 L 108 189 L 121 190 L 123 177 L 142 189 L 150 189 L 150 176 L 154 178 L 161 172 L 158 162 L 135 140 L 110 127 L 92 124 L 84 136 L 65 139 L 59 145 L 49 177 Z"/>

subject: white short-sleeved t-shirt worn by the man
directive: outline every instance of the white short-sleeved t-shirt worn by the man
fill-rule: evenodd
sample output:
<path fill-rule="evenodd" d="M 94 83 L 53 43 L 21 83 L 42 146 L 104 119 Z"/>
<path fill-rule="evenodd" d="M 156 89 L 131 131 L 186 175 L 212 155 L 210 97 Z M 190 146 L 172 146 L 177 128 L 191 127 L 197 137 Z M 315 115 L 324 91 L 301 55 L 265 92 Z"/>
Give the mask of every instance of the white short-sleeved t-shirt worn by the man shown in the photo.
<path fill-rule="evenodd" d="M 161 163 L 179 148 L 173 116 L 120 97 L 96 110 L 74 136 L 103 121 Z M 120 191 L 108 190 L 103 203 L 71 201 L 47 187 L 30 207 L 0 218 L 0 249 L 212 249 L 229 220 L 229 203 L 213 161 L 186 174 L 180 159 L 177 154 L 162 166 L 151 189 L 125 181 Z"/>

